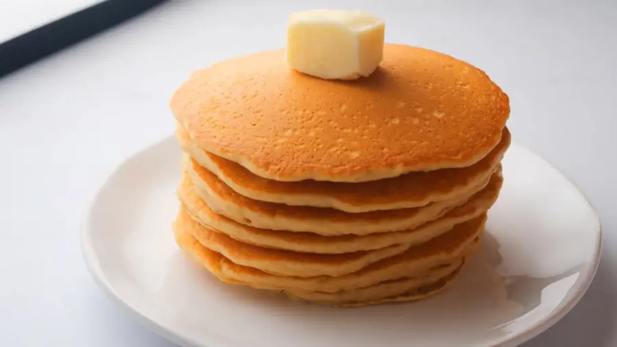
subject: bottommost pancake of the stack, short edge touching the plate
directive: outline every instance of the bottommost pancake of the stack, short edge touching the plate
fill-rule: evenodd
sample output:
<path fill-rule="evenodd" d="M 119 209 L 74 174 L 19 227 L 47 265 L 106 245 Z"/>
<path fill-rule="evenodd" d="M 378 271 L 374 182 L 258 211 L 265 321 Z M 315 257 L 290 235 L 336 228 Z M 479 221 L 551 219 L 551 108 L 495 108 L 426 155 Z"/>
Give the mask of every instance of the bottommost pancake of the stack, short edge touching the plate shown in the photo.
<path fill-rule="evenodd" d="M 371 287 L 322 293 L 315 291 L 285 291 L 292 299 L 329 304 L 337 307 L 360 307 L 383 302 L 404 302 L 427 298 L 446 289 L 461 272 L 465 261 L 441 267 L 424 276 L 413 276 L 388 280 Z"/>

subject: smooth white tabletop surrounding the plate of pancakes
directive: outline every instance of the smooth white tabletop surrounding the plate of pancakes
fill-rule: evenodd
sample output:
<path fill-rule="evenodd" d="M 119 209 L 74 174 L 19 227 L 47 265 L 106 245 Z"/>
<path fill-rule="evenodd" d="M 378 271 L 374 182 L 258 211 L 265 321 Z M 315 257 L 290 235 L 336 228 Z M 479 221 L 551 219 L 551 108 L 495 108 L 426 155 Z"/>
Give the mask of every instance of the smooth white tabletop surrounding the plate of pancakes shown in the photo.
<path fill-rule="evenodd" d="M 524 346 L 617 346 L 610 0 L 173 1 L 1 79 L 0 346 L 173 346 L 95 286 L 79 246 L 84 208 L 121 160 L 171 134 L 168 99 L 193 69 L 282 47 L 289 12 L 335 7 L 382 16 L 387 40 L 468 60 L 510 95 L 515 141 L 583 189 L 604 231 L 588 294 Z"/>

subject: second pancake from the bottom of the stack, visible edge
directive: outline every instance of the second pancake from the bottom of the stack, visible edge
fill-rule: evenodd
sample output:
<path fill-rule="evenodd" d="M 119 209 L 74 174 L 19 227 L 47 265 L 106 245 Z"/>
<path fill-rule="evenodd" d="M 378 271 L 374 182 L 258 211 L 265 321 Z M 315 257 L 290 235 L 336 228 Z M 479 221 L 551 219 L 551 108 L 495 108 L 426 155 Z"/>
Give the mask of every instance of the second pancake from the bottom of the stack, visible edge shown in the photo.
<path fill-rule="evenodd" d="M 369 287 L 387 280 L 422 274 L 433 267 L 452 263 L 466 251 L 474 250 L 475 243 L 484 230 L 486 216 L 459 224 L 442 237 L 428 243 L 411 247 L 407 251 L 387 259 L 382 259 L 362 270 L 344 276 L 279 276 L 258 270 L 252 266 L 239 265 L 199 243 L 193 237 L 189 217 L 182 213 L 173 224 L 176 242 L 193 261 L 199 263 L 210 273 L 226 283 L 243 284 L 256 289 L 288 291 L 321 291 L 336 293 Z M 269 258 L 271 259 L 271 257 Z M 280 259 L 279 259 L 280 261 Z M 252 264 L 258 263 L 253 258 Z"/>

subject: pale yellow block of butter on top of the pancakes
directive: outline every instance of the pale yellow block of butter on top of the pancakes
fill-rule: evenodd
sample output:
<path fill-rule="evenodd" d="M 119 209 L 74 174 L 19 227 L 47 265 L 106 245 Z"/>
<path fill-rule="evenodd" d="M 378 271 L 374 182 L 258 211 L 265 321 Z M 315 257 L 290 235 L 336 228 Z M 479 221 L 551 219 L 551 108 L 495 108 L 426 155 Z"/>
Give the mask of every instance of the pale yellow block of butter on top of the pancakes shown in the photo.
<path fill-rule="evenodd" d="M 285 59 L 292 69 L 327 80 L 368 76 L 383 59 L 385 23 L 360 11 L 295 12 Z"/>

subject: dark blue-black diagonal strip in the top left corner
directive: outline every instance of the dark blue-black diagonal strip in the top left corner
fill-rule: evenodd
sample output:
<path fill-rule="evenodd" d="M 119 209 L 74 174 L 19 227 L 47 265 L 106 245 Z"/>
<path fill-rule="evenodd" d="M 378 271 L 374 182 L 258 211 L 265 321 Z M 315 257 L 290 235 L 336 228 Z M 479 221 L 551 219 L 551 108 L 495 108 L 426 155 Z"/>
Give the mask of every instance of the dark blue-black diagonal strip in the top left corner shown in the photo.
<path fill-rule="evenodd" d="M 0 77 L 118 25 L 165 0 L 106 0 L 0 44 Z"/>

